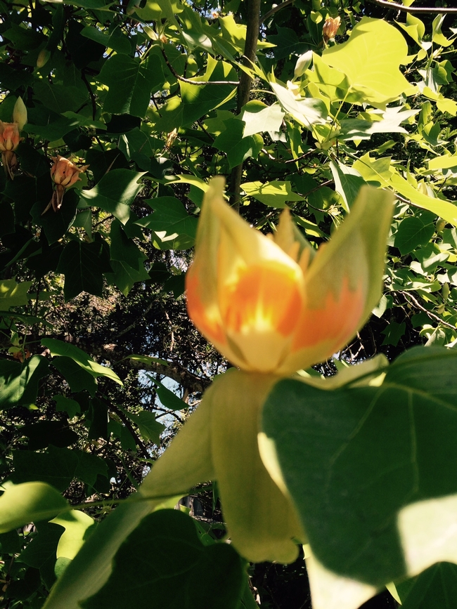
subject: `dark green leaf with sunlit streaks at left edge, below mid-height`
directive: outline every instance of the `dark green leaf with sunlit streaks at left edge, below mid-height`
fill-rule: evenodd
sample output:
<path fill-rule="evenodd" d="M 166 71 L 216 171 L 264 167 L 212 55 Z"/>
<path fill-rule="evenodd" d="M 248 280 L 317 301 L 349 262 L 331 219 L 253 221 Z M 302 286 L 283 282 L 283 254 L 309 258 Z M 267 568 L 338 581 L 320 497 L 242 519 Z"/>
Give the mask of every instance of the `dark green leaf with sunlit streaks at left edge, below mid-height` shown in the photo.
<path fill-rule="evenodd" d="M 0 408 L 30 405 L 37 399 L 38 383 L 49 374 L 49 362 L 33 355 L 23 364 L 12 360 L 0 362 Z"/>

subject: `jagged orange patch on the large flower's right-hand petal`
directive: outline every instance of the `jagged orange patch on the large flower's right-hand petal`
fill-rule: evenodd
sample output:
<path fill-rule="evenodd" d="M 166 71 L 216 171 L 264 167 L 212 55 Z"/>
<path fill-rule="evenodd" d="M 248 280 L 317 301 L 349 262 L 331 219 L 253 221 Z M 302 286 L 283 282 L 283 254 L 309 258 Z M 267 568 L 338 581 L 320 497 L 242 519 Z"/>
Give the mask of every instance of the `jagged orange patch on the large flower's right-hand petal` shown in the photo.
<path fill-rule="evenodd" d="M 360 327 L 364 306 L 365 294 L 362 285 L 359 284 L 354 292 L 349 288 L 345 277 L 339 299 L 336 300 L 333 292 L 329 291 L 325 308 L 304 311 L 292 351 L 318 343 L 330 343 L 330 351 L 331 346 L 335 349 L 341 348 Z"/>

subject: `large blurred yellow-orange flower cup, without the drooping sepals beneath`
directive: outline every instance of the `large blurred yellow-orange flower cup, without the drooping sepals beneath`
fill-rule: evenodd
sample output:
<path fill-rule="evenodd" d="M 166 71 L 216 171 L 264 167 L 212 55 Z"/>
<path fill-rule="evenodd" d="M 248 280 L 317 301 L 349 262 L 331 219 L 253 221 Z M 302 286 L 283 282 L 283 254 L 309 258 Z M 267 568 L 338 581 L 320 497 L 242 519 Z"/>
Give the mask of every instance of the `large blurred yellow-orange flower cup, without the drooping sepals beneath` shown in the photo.
<path fill-rule="evenodd" d="M 286 375 L 330 358 L 380 298 L 392 195 L 363 188 L 314 256 L 288 210 L 270 239 L 228 207 L 223 188 L 213 178 L 203 202 L 186 277 L 189 316 L 251 372 Z"/>

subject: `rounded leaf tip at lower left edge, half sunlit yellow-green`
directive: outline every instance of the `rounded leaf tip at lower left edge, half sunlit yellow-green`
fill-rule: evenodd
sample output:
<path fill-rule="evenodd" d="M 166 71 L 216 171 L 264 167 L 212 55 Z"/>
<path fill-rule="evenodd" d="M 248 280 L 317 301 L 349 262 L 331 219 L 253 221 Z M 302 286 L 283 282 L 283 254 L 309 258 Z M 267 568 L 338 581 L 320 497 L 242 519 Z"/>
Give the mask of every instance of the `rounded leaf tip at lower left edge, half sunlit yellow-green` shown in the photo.
<path fill-rule="evenodd" d="M 0 497 L 0 532 L 53 518 L 67 507 L 66 499 L 49 484 L 29 482 L 8 486 Z"/>

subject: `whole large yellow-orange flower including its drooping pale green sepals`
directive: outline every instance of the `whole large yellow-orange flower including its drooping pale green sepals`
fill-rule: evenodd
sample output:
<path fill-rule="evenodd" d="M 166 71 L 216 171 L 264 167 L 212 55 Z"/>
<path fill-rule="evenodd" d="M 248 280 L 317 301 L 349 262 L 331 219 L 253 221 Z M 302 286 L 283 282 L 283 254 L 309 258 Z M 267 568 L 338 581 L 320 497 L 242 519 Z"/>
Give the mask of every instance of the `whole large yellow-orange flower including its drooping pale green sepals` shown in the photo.
<path fill-rule="evenodd" d="M 217 480 L 240 554 L 290 563 L 306 533 L 281 474 L 262 461 L 262 407 L 278 379 L 330 358 L 378 303 L 393 197 L 363 187 L 345 221 L 315 251 L 288 211 L 266 237 L 223 194 L 224 180 L 213 178 L 186 278 L 188 313 L 238 369 L 205 392 L 140 494 L 179 495 Z"/>

